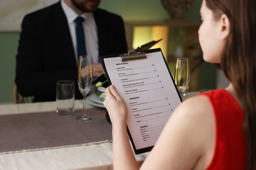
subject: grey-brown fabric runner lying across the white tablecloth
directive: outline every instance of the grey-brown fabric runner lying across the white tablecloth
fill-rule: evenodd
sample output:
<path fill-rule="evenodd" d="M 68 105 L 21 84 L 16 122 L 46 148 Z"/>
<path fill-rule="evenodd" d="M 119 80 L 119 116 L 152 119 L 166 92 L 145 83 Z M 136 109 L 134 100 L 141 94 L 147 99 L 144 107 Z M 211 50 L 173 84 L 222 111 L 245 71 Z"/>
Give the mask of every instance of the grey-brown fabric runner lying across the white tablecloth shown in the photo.
<path fill-rule="evenodd" d="M 0 116 L 0 154 L 104 143 L 112 140 L 105 109 L 87 109 L 93 122 L 77 122 L 83 114 L 62 117 L 55 112 Z"/>

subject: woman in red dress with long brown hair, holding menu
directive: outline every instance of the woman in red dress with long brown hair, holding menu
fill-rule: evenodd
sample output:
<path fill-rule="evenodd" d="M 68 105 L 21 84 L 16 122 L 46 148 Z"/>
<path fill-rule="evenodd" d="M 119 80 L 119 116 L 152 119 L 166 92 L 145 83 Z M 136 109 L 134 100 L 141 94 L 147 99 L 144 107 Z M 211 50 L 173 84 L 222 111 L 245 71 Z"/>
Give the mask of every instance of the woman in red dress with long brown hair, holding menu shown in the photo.
<path fill-rule="evenodd" d="M 203 59 L 221 63 L 230 85 L 182 102 L 141 169 L 256 169 L 256 1 L 203 0 Z M 127 137 L 127 107 L 106 90 L 115 169 L 139 169 Z"/>

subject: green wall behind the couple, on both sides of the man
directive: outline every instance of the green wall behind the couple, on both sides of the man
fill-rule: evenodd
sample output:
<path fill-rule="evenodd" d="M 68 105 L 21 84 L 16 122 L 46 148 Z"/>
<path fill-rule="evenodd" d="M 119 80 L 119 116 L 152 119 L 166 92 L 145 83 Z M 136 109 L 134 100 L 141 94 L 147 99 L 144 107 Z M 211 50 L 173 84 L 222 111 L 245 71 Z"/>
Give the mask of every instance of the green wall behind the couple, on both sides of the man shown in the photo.
<path fill-rule="evenodd" d="M 196 0 L 192 9 L 184 16 L 188 20 L 200 20 L 201 0 Z M 102 9 L 123 16 L 125 21 L 162 21 L 169 15 L 158 0 L 102 0 Z M 15 76 L 15 56 L 19 32 L 0 32 L 0 104 L 12 103 Z"/>

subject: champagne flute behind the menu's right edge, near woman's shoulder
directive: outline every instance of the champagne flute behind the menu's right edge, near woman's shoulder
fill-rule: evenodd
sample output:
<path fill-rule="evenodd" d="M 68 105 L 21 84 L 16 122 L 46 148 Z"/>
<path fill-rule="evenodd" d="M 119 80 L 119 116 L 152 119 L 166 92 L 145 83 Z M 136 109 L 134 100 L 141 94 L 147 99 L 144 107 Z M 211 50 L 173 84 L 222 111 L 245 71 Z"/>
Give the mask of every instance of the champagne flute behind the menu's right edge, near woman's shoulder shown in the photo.
<path fill-rule="evenodd" d="M 190 64 L 188 58 L 177 58 L 175 68 L 175 84 L 182 97 L 186 95 L 190 80 Z"/>

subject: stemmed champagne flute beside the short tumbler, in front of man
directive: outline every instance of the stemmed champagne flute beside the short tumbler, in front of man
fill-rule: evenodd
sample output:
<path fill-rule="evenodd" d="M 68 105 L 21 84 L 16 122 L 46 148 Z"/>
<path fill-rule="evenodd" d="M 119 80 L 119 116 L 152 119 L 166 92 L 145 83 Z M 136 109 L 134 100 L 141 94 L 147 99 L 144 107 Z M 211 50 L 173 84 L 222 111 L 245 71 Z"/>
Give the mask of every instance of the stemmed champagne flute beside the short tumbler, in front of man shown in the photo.
<path fill-rule="evenodd" d="M 81 122 L 90 122 L 93 118 L 87 116 L 85 112 L 85 98 L 91 90 L 93 82 L 93 63 L 91 56 L 80 56 L 78 61 L 78 86 L 83 95 L 83 116 L 79 116 L 76 119 Z"/>

